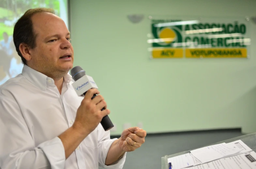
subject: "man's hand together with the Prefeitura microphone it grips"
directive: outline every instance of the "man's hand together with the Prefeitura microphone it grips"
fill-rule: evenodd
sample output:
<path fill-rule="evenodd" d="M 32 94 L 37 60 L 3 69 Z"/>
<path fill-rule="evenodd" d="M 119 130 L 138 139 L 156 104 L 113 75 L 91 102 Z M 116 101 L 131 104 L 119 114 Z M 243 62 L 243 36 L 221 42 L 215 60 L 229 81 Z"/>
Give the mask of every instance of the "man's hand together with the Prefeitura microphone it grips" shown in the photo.
<path fill-rule="evenodd" d="M 111 129 L 114 125 L 108 114 L 110 110 L 106 109 L 107 104 L 104 98 L 99 94 L 98 86 L 93 78 L 85 75 L 85 71 L 76 66 L 71 70 L 72 78 L 75 82 L 72 84 L 78 96 L 84 95 L 80 107 L 77 110 L 74 125 L 79 128 L 87 128 L 92 132 L 98 123 L 101 123 L 105 131 Z"/>

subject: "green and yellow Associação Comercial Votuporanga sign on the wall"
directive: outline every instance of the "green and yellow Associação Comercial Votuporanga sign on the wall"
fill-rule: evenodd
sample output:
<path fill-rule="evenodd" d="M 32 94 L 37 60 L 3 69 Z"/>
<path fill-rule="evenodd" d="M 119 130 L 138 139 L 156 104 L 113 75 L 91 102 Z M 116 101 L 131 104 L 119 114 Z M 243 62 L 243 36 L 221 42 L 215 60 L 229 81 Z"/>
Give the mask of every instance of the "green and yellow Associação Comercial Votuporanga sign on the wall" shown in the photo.
<path fill-rule="evenodd" d="M 247 58 L 247 20 L 152 19 L 153 58 Z"/>

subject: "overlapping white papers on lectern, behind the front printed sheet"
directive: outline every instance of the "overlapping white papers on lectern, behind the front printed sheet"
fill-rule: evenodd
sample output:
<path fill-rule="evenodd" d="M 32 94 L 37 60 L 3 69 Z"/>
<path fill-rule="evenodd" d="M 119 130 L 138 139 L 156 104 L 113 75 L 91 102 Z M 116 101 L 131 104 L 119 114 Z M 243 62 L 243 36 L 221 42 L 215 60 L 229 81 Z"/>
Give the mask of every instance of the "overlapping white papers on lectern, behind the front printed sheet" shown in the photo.
<path fill-rule="evenodd" d="M 191 150 L 191 153 L 168 158 L 168 162 L 172 163 L 172 169 L 182 169 L 186 167 L 204 164 L 207 162 L 208 165 L 209 162 L 216 162 L 216 160 L 218 159 L 224 159 L 238 154 L 243 154 L 249 151 L 252 151 L 252 149 L 250 149 L 241 140 L 237 140 L 227 144 L 222 143 L 213 146 L 203 147 L 200 149 Z"/>

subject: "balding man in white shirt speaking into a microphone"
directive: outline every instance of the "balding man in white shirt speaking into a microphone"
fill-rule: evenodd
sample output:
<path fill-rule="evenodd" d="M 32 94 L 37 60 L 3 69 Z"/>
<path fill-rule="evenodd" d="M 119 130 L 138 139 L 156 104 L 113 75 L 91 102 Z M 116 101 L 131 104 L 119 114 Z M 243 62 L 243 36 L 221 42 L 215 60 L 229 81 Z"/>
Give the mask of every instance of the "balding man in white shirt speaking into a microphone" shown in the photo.
<path fill-rule="evenodd" d="M 29 9 L 13 41 L 24 67 L 0 86 L 0 168 L 123 168 L 126 152 L 144 143 L 146 131 L 132 127 L 110 139 L 100 124 L 110 110 L 101 95 L 92 99 L 99 91 L 77 96 L 65 22 L 52 9 Z"/>

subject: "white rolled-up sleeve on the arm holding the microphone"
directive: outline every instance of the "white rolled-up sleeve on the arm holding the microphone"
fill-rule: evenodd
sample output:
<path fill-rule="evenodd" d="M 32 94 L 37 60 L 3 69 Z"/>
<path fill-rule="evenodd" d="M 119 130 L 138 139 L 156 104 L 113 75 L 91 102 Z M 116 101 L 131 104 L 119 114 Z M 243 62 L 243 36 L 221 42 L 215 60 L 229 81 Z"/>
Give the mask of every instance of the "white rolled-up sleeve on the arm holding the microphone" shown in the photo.
<path fill-rule="evenodd" d="M 35 147 L 34 140 L 15 101 L 0 97 L 0 168 L 63 169 L 65 150 L 58 137 Z"/>

